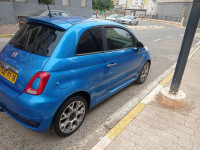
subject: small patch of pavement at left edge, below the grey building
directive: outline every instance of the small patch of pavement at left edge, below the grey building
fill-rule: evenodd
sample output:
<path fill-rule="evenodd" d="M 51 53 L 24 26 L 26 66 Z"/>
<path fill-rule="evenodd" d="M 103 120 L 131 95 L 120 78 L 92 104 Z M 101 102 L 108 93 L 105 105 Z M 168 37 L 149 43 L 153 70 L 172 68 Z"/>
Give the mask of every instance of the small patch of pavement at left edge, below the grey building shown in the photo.
<path fill-rule="evenodd" d="M 19 29 L 15 24 L 0 24 L 0 35 L 14 34 Z"/>

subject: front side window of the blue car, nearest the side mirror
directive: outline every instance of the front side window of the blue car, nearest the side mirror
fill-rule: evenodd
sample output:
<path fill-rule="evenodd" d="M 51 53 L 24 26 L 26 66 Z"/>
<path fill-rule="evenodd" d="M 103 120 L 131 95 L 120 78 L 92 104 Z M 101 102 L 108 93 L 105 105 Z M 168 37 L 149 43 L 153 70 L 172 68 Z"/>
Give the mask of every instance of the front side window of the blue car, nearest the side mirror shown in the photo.
<path fill-rule="evenodd" d="M 108 50 L 135 47 L 136 39 L 121 28 L 105 28 Z"/>

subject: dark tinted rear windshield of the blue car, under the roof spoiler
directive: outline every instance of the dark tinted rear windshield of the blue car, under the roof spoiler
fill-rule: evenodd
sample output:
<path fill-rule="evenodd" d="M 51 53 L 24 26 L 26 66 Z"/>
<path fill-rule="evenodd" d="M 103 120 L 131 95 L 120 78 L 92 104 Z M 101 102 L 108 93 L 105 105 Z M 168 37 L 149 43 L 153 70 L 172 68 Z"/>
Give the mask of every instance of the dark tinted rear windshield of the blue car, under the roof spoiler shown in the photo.
<path fill-rule="evenodd" d="M 64 33 L 46 25 L 24 24 L 10 44 L 32 54 L 50 57 Z"/>

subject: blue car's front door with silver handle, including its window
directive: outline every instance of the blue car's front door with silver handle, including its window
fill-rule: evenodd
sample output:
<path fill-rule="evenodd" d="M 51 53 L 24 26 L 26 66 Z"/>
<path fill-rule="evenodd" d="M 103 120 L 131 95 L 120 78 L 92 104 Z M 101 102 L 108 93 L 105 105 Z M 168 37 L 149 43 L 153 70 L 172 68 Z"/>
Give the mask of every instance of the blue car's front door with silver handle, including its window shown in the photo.
<path fill-rule="evenodd" d="M 114 92 L 120 86 L 135 80 L 140 64 L 136 38 L 125 28 L 105 26 L 106 89 Z"/>

